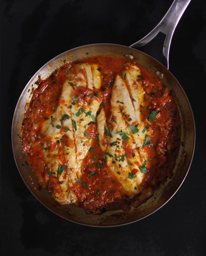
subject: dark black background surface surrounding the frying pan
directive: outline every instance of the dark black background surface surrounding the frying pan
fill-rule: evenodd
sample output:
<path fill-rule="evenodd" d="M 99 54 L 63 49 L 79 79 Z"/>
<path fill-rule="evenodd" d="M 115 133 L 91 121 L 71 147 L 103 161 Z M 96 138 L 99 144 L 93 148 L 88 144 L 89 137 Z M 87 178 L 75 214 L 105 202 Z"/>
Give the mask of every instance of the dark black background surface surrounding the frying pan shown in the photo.
<path fill-rule="evenodd" d="M 170 70 L 185 89 L 196 122 L 189 174 L 176 195 L 151 216 L 122 227 L 92 228 L 54 215 L 26 188 L 12 154 L 14 108 L 28 80 L 49 59 L 91 43 L 129 46 L 156 26 L 172 0 L 1 1 L 2 256 L 206 255 L 204 2 L 192 0 L 170 52 Z"/>

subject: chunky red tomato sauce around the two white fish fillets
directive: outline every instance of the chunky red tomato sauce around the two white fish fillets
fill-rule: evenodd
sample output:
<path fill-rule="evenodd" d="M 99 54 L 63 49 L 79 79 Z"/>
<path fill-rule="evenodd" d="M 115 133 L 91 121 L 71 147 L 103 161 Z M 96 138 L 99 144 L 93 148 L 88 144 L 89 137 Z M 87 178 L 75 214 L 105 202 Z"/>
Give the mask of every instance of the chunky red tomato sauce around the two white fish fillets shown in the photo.
<path fill-rule="evenodd" d="M 107 119 L 110 117 L 110 97 L 112 84 L 115 76 L 124 70 L 124 64 L 128 62 L 125 59 L 113 57 L 94 57 L 78 61 L 79 63 L 86 61 L 89 64 L 98 63 L 99 71 L 101 71 L 101 93 L 98 94 L 97 100 L 101 102 L 105 110 Z M 46 80 L 39 79 L 36 83 L 37 89 L 34 90 L 30 103 L 25 106 L 25 114 L 22 123 L 21 138 L 23 152 L 26 153 L 28 163 L 31 165 L 38 182 L 44 188 L 52 192 L 55 197 L 56 193 L 61 194 L 62 190 L 59 180 L 48 175 L 48 167 L 44 159 L 43 145 L 44 142 L 49 143 L 49 138 L 41 133 L 42 123 L 54 113 L 59 104 L 59 97 L 63 82 L 66 81 L 66 74 L 73 63 L 65 63 L 61 68 L 55 70 Z M 148 131 L 151 132 L 150 144 L 146 144 L 143 150 L 147 153 L 151 160 L 147 162 L 148 173 L 145 174 L 142 186 L 145 188 L 157 188 L 160 184 L 165 183 L 166 179 L 172 176 L 172 170 L 176 163 L 176 157 L 180 146 L 180 117 L 176 103 L 173 99 L 171 91 L 165 87 L 162 82 L 150 70 L 136 65 L 141 70 L 142 86 L 145 91 L 144 106 L 141 109 L 142 122 Z M 109 86 L 108 86 L 109 85 Z M 85 102 L 88 101 L 88 95 L 91 89 L 78 87 L 74 92 L 74 96 L 79 96 Z M 155 118 L 150 126 L 148 126 L 148 114 L 156 111 L 157 116 L 161 113 L 161 118 Z M 110 129 L 110 127 L 108 127 Z M 64 127 L 61 127 L 62 134 Z M 98 137 L 96 124 L 91 124 L 86 131 L 90 137 Z M 99 142 L 98 139 L 92 139 L 91 147 L 95 147 Z M 107 144 L 107 139 L 103 143 Z M 61 146 L 60 146 L 61 144 Z M 61 158 L 63 146 L 68 145 L 74 147 L 74 142 L 63 135 L 61 143 L 56 141 L 49 146 L 48 150 L 58 148 Z M 131 157 L 134 149 L 129 147 L 127 141 L 124 141 L 124 154 Z M 108 167 L 98 167 L 98 161 L 104 161 L 103 151 L 100 147 L 96 150 L 88 152 L 82 164 L 82 183 L 87 187 L 76 182 L 73 191 L 78 200 L 75 204 L 84 207 L 87 211 L 111 210 L 111 209 L 128 209 L 129 200 L 126 196 L 122 185 Z M 137 173 L 137 169 L 133 169 L 133 174 Z M 94 175 L 89 175 L 89 174 Z M 98 209 L 98 210 L 97 210 Z"/>

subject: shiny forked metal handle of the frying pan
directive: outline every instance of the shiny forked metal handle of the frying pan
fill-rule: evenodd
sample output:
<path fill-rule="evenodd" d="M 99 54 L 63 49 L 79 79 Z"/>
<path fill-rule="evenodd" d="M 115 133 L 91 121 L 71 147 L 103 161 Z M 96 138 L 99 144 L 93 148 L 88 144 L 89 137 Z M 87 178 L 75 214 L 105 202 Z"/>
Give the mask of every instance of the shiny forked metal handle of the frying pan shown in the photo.
<path fill-rule="evenodd" d="M 164 58 L 164 66 L 169 69 L 169 49 L 172 36 L 180 18 L 185 12 L 185 9 L 189 5 L 190 1 L 191 0 L 174 0 L 168 12 L 164 15 L 159 24 L 157 24 L 157 26 L 153 28 L 152 31 L 144 38 L 130 45 L 130 47 L 139 48 L 150 42 L 159 32 L 164 33 L 166 35 L 166 38 L 164 40 L 162 53 Z"/>

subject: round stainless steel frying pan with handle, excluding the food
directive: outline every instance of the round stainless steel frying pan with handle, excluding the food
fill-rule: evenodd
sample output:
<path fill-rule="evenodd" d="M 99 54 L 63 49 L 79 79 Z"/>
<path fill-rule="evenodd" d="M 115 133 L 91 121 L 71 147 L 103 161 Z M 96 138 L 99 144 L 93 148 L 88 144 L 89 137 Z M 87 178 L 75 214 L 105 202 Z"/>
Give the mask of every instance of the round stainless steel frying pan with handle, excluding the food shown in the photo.
<path fill-rule="evenodd" d="M 54 59 L 42 66 L 42 68 L 40 68 L 40 70 L 35 73 L 35 75 L 30 79 L 24 88 L 16 105 L 12 123 L 12 147 L 14 158 L 19 169 L 19 173 L 28 189 L 45 207 L 53 211 L 55 214 L 69 221 L 84 225 L 101 227 L 124 225 L 138 221 L 157 211 L 157 209 L 169 201 L 169 199 L 176 193 L 178 188 L 183 183 L 185 176 L 187 175 L 187 172 L 190 168 L 194 153 L 194 117 L 190 103 L 183 88 L 167 68 L 169 66 L 168 60 L 171 38 L 177 23 L 189 2 L 190 0 L 175 0 L 162 21 L 160 21 L 160 23 L 147 36 L 145 36 L 145 38 L 131 45 L 131 47 L 114 44 L 85 45 L 68 50 L 67 52 L 56 56 Z M 166 35 L 163 47 L 164 64 L 166 67 L 159 63 L 157 60 L 153 59 L 151 56 L 132 48 L 145 45 L 159 32 L 162 32 Z M 118 210 L 92 215 L 86 214 L 84 209 L 74 205 L 59 205 L 56 201 L 54 201 L 54 199 L 51 197 L 51 194 L 47 190 L 35 189 L 37 187 L 37 179 L 30 169 L 30 166 L 25 164 L 26 156 L 22 153 L 21 138 L 19 137 L 19 134 L 21 123 L 23 121 L 24 106 L 27 102 L 30 101 L 32 92 L 37 87 L 35 81 L 38 80 L 38 76 L 40 75 L 42 79 L 47 78 L 56 68 L 63 65 L 65 60 L 75 61 L 77 59 L 91 56 L 116 56 L 119 58 L 125 58 L 125 56 L 129 56 L 149 70 L 152 70 L 153 73 L 157 73 L 164 85 L 172 90 L 172 94 L 178 106 L 181 118 L 182 143 L 176 161 L 176 166 L 173 170 L 173 177 L 169 179 L 164 186 L 162 185 L 157 190 L 155 190 L 154 195 L 149 200 L 147 200 L 147 202 L 141 204 L 137 209 L 131 209 L 128 212 Z M 51 63 L 53 65 L 51 65 Z"/>

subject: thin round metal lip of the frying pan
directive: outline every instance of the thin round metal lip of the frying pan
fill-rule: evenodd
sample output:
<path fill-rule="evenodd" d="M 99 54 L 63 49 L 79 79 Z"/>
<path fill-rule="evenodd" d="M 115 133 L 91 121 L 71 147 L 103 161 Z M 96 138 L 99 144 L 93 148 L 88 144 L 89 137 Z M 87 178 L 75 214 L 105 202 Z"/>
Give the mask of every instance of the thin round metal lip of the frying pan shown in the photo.
<path fill-rule="evenodd" d="M 19 100 L 18 100 L 17 103 L 16 103 L 16 108 L 15 108 L 15 110 L 14 110 L 14 115 L 13 115 L 13 119 L 12 119 L 12 136 L 11 136 L 11 139 L 12 139 L 12 151 L 13 151 L 13 155 L 14 155 L 14 160 L 15 160 L 15 163 L 16 163 L 16 167 L 17 167 L 17 169 L 18 169 L 18 171 L 19 171 L 19 174 L 20 174 L 20 176 L 21 176 L 23 182 L 24 182 L 25 185 L 27 186 L 28 190 L 33 194 L 33 196 L 34 196 L 42 205 L 44 205 L 44 207 L 46 207 L 47 209 L 49 209 L 49 211 L 52 211 L 54 214 L 58 215 L 59 217 L 64 218 L 65 220 L 71 221 L 71 222 L 73 222 L 73 223 L 77 223 L 77 224 L 81 224 L 81 225 L 85 225 L 85 226 L 89 226 L 89 227 L 95 227 L 95 228 L 110 228 L 110 227 L 112 228 L 112 227 L 119 227 L 119 226 L 123 226 L 123 225 L 128 225 L 128 224 L 134 223 L 134 222 L 136 222 L 136 221 L 140 221 L 140 220 L 142 220 L 142 219 L 144 219 L 144 218 L 150 216 L 151 214 L 155 213 L 155 212 L 156 212 L 157 210 L 159 210 L 160 208 L 162 208 L 169 200 L 171 200 L 171 198 L 177 193 L 177 191 L 179 190 L 180 186 L 183 184 L 183 182 L 184 182 L 184 180 L 185 180 L 185 178 L 186 178 L 186 176 L 187 176 L 187 174 L 188 174 L 188 172 L 189 172 L 189 170 L 190 170 L 191 164 L 192 164 L 192 159 L 193 159 L 194 150 L 195 150 L 195 141 L 196 141 L 196 128 L 195 128 L 195 122 L 194 122 L 194 114 L 193 114 L 193 111 L 192 111 L 192 107 L 191 107 L 191 105 L 190 105 L 190 101 L 189 101 L 189 99 L 188 99 L 188 97 L 187 97 L 187 95 L 186 95 L 186 93 L 185 93 L 183 87 L 182 87 L 182 86 L 180 85 L 180 83 L 178 82 L 178 80 L 174 77 L 174 75 L 170 72 L 170 70 L 167 70 L 166 67 L 164 67 L 164 69 L 166 69 L 166 72 L 169 72 L 170 75 L 172 75 L 172 77 L 176 80 L 176 82 L 177 82 L 178 85 L 180 86 L 180 89 L 183 91 L 183 94 L 185 95 L 185 98 L 187 99 L 187 103 L 188 103 L 188 106 L 189 106 L 189 108 L 190 108 L 190 112 L 191 112 L 191 114 L 192 114 L 192 120 L 193 120 L 192 126 L 193 126 L 193 130 L 194 130 L 193 150 L 192 150 L 192 155 L 191 155 L 191 158 L 190 158 L 190 164 L 189 164 L 189 166 L 188 166 L 187 172 L 186 172 L 186 174 L 185 174 L 183 180 L 180 182 L 180 184 L 179 184 L 178 188 L 176 189 L 176 191 L 171 195 L 171 197 L 169 197 L 168 200 L 166 200 L 166 202 L 164 202 L 164 204 L 162 204 L 160 207 L 158 207 L 157 209 L 155 209 L 155 210 L 152 211 L 151 213 L 149 213 L 149 214 L 147 214 L 147 215 L 143 216 L 142 218 L 139 218 L 139 219 L 137 219 L 137 220 L 135 220 L 135 221 L 126 222 L 126 223 L 122 223 L 122 224 L 119 224 L 119 225 L 98 225 L 98 224 L 97 224 L 97 225 L 90 225 L 90 224 L 82 223 L 81 221 L 73 221 L 73 220 L 70 220 L 70 219 L 68 219 L 68 218 L 65 218 L 64 216 L 61 216 L 60 214 L 56 213 L 55 211 L 53 211 L 52 209 L 50 209 L 49 207 L 47 207 L 42 201 L 40 201 L 40 199 L 33 193 L 33 191 L 30 190 L 30 188 L 28 187 L 28 185 L 27 185 L 26 182 L 24 181 L 24 178 L 23 178 L 23 176 L 22 176 L 22 174 L 21 174 L 20 166 L 17 164 L 17 161 L 16 161 L 16 153 L 15 153 L 15 150 L 14 150 L 14 136 L 16 136 L 16 134 L 15 134 L 14 122 L 15 122 L 15 117 L 16 117 L 16 111 L 17 111 L 18 105 L 19 105 L 19 103 L 20 103 L 20 101 L 21 101 L 23 95 L 26 93 L 27 86 L 28 86 L 28 85 L 30 84 L 30 82 L 38 75 L 38 73 L 40 73 L 40 71 L 41 71 L 44 67 L 46 67 L 49 63 L 51 63 L 52 61 L 54 61 L 55 59 L 57 59 L 58 57 L 60 57 L 60 56 L 63 55 L 63 54 L 67 54 L 67 53 L 69 53 L 69 52 L 71 52 L 71 51 L 74 51 L 74 50 L 77 50 L 77 49 L 80 49 L 80 48 L 84 48 L 84 47 L 92 47 L 92 46 L 110 46 L 110 45 L 111 45 L 111 46 L 117 46 L 117 47 L 124 47 L 124 48 L 128 48 L 128 50 L 131 50 L 131 49 L 132 49 L 132 50 L 135 50 L 135 51 L 137 51 L 137 52 L 143 53 L 143 54 L 145 54 L 146 56 L 148 56 L 149 58 L 154 59 L 157 63 L 159 63 L 162 67 L 164 67 L 164 66 L 162 65 L 162 63 L 160 63 L 159 61 L 157 61 L 157 60 L 156 60 L 155 58 L 153 58 L 152 56 L 146 54 L 145 52 L 141 52 L 141 51 L 138 50 L 138 49 L 134 49 L 134 48 L 131 48 L 131 47 L 128 47 L 128 46 L 125 46 L 125 45 L 118 45 L 118 44 L 111 44 L 111 43 L 96 43 L 96 44 L 82 45 L 82 46 L 79 46 L 79 47 L 75 47 L 75 48 L 69 49 L 69 50 L 67 50 L 67 51 L 65 51 L 65 52 L 62 52 L 61 54 L 55 56 L 55 57 L 52 58 L 51 60 L 47 61 L 47 63 L 45 63 L 41 68 L 39 68 L 39 69 L 37 70 L 37 72 L 32 76 L 32 78 L 30 78 L 30 80 L 27 82 L 26 86 L 24 87 L 24 89 L 23 89 L 21 95 L 19 96 Z"/>

